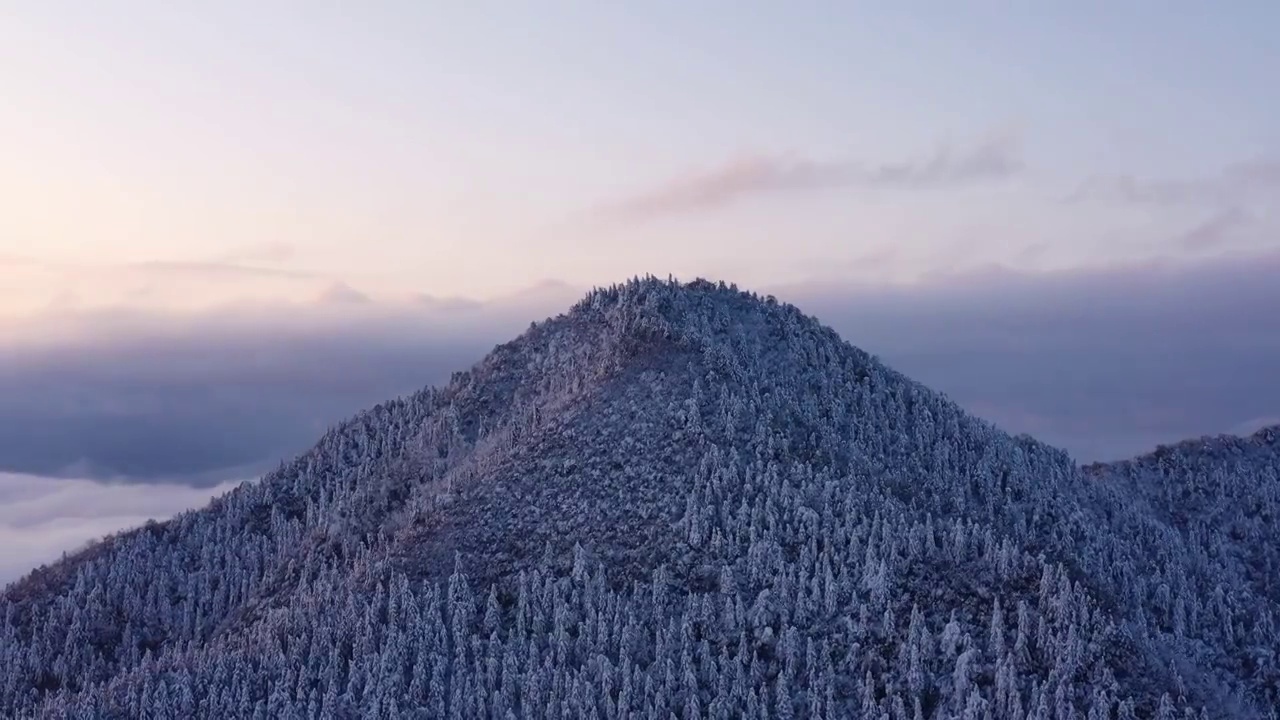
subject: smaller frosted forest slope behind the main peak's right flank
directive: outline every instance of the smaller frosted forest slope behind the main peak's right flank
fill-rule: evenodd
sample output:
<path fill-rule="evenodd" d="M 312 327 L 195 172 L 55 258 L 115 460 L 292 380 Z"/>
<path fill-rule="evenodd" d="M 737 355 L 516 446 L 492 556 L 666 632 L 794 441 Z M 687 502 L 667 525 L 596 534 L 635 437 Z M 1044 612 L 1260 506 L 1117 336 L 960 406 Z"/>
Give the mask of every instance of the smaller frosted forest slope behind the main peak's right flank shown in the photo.
<path fill-rule="evenodd" d="M 1280 707 L 1280 425 L 1085 473 L 1115 486 L 1176 551 L 1160 556 L 1167 571 L 1146 584 L 1143 603 L 1165 652 L 1198 665 L 1230 648 L 1217 661 Z"/>

